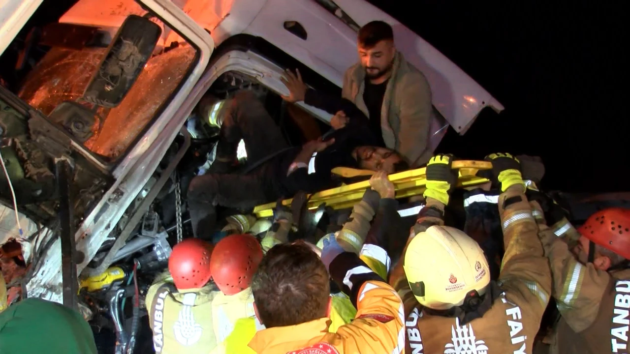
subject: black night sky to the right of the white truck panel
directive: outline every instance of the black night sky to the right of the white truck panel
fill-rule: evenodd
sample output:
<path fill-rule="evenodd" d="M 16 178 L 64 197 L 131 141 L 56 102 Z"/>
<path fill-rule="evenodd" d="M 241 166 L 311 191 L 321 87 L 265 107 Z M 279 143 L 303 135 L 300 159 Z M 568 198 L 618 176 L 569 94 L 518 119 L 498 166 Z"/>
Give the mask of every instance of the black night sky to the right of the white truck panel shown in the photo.
<path fill-rule="evenodd" d="M 472 76 L 506 107 L 484 111 L 464 136 L 438 148 L 460 157 L 493 151 L 541 156 L 543 186 L 630 190 L 627 6 L 512 1 L 370 0 Z M 459 2 L 457 4 L 462 4 Z M 618 3 L 619 5 L 615 5 Z"/>

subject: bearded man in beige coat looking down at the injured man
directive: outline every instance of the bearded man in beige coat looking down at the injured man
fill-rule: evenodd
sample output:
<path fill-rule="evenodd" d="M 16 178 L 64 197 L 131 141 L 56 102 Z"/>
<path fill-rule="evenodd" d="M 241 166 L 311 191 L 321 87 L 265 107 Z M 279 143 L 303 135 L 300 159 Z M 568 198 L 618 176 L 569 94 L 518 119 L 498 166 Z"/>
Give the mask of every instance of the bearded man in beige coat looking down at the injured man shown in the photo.
<path fill-rule="evenodd" d="M 426 164 L 433 109 L 427 78 L 396 50 L 394 32 L 384 21 L 371 21 L 358 31 L 357 49 L 359 62 L 345 72 L 341 96 L 369 117 L 383 146 L 400 152 L 412 167 Z M 338 98 L 307 89 L 299 71 L 287 70 L 282 81 L 289 102 L 304 101 L 331 114 L 341 109 Z"/>

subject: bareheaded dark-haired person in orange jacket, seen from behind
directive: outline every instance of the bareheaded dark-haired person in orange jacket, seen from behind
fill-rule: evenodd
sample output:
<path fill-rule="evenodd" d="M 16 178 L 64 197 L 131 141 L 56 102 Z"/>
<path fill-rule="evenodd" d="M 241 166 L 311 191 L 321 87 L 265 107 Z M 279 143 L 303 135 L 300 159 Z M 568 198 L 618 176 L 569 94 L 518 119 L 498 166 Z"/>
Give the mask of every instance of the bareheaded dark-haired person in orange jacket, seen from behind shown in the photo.
<path fill-rule="evenodd" d="M 329 277 L 357 307 L 354 321 L 336 333 L 328 331 Z M 335 237 L 324 241 L 321 259 L 301 241 L 274 246 L 252 290 L 256 316 L 266 327 L 249 342 L 256 353 L 404 353 L 400 297 Z"/>

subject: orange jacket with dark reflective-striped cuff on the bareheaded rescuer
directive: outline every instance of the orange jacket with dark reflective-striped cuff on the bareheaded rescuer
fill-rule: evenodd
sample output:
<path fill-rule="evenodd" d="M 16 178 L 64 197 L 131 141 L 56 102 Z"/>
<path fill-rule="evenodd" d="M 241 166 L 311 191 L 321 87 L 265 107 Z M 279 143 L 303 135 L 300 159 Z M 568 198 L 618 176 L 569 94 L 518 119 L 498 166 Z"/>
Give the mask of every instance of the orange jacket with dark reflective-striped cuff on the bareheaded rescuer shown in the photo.
<path fill-rule="evenodd" d="M 258 354 L 404 353 L 404 314 L 400 297 L 357 254 L 341 253 L 331 277 L 357 307 L 357 316 L 329 332 L 328 318 L 296 326 L 266 328 L 249 342 Z"/>

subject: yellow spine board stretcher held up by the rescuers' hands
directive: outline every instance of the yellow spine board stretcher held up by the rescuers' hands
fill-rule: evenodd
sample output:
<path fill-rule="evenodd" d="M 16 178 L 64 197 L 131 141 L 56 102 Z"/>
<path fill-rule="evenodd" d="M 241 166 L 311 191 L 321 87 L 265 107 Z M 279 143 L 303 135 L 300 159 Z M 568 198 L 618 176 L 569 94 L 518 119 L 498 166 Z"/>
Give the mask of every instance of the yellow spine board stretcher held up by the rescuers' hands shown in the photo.
<path fill-rule="evenodd" d="M 479 170 L 491 169 L 492 164 L 488 161 L 453 161 L 453 168 L 459 169 L 457 186 L 466 188 L 487 183 L 488 179 L 478 177 L 476 174 Z M 335 168 L 331 172 L 347 178 L 371 176 L 374 174 L 374 171 L 352 168 Z M 396 187 L 396 198 L 422 195 L 427 185 L 427 168 L 423 167 L 391 174 L 389 175 L 389 180 Z M 310 196 L 308 208 L 317 208 L 321 203 L 326 203 L 327 206 L 333 209 L 351 208 L 361 200 L 367 188 L 370 188 L 370 183 L 366 180 L 314 193 Z M 291 199 L 285 199 L 282 203 L 290 205 L 291 201 Z M 254 214 L 259 219 L 272 217 L 274 207 L 275 202 L 258 205 L 258 207 L 254 208 Z"/>

